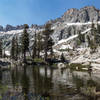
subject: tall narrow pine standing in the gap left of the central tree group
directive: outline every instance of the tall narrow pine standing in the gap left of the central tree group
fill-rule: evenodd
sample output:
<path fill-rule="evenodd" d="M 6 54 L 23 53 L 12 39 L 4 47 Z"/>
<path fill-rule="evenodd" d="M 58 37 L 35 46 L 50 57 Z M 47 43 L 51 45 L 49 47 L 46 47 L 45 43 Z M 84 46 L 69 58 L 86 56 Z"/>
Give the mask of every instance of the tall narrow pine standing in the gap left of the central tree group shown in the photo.
<path fill-rule="evenodd" d="M 22 54 L 24 56 L 24 62 L 26 62 L 26 52 L 29 50 L 29 34 L 27 29 L 29 26 L 27 24 L 24 25 L 24 31 L 21 38 L 21 46 L 22 46 Z"/>

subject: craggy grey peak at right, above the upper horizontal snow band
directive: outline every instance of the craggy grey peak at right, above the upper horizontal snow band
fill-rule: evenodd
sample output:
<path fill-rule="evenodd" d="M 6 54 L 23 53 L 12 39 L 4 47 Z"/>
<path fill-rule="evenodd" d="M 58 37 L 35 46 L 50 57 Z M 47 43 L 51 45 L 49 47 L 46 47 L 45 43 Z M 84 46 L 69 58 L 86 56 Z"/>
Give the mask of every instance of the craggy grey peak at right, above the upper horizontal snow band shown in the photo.
<path fill-rule="evenodd" d="M 92 22 L 100 21 L 100 10 L 95 7 L 84 7 L 80 10 L 70 9 L 62 16 L 66 22 Z"/>

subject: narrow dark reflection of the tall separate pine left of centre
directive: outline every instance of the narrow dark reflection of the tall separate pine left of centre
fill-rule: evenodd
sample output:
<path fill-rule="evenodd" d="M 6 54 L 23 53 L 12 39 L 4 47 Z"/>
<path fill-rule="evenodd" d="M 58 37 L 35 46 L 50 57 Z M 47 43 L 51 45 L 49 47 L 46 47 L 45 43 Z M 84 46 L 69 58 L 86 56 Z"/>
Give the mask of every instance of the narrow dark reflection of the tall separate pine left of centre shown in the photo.
<path fill-rule="evenodd" d="M 21 76 L 21 85 L 22 85 L 22 93 L 24 94 L 24 100 L 28 100 L 28 93 L 29 93 L 29 77 L 26 73 L 26 66 L 24 66 L 24 72 Z"/>

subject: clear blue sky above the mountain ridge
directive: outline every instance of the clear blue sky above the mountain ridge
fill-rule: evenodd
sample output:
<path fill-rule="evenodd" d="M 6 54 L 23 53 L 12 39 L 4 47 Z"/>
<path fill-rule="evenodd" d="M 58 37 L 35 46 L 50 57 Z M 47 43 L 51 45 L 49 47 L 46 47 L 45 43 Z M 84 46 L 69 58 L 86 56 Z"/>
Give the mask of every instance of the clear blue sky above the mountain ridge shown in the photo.
<path fill-rule="evenodd" d="M 70 8 L 84 6 L 100 9 L 100 0 L 0 0 L 0 25 L 43 25 Z"/>

